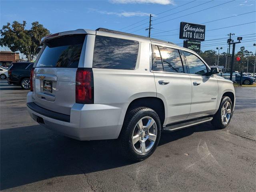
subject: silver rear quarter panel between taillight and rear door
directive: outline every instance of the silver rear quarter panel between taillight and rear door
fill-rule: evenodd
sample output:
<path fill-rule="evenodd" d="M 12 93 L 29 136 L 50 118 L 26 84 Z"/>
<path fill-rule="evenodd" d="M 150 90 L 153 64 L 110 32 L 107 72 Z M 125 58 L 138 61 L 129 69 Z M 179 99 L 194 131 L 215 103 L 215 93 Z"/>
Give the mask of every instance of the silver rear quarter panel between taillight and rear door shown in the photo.
<path fill-rule="evenodd" d="M 93 68 L 94 104 L 118 105 L 121 108 L 119 124 L 133 100 L 156 97 L 154 74 L 150 72 L 150 42 L 140 42 L 134 70 Z"/>

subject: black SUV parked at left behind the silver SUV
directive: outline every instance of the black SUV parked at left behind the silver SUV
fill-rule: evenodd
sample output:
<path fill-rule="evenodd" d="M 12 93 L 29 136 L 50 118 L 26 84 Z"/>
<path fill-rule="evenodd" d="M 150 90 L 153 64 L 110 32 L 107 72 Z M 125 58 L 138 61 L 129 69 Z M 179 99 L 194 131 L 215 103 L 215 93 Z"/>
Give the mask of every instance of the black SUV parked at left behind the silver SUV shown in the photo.
<path fill-rule="evenodd" d="M 33 62 L 12 63 L 8 70 L 8 84 L 20 85 L 22 89 L 30 89 L 30 71 Z"/>

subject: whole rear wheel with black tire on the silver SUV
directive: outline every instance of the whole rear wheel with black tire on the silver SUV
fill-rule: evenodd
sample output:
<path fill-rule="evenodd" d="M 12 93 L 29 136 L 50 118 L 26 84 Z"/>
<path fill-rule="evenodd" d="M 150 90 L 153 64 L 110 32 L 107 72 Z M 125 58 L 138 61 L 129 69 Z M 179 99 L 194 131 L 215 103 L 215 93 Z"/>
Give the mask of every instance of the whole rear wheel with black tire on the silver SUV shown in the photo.
<path fill-rule="evenodd" d="M 158 146 L 161 131 L 160 118 L 154 110 L 147 107 L 130 110 L 118 138 L 121 154 L 133 161 L 148 158 Z"/>

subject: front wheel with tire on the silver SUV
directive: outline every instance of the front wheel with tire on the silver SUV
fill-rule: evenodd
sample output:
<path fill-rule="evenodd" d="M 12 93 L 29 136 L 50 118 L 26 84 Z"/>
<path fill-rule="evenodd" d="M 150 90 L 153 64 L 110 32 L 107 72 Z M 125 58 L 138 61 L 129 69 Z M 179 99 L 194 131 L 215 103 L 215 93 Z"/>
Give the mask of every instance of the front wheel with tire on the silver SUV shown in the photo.
<path fill-rule="evenodd" d="M 223 129 L 229 125 L 233 114 L 233 104 L 228 96 L 223 96 L 220 107 L 211 121 L 216 128 Z"/>

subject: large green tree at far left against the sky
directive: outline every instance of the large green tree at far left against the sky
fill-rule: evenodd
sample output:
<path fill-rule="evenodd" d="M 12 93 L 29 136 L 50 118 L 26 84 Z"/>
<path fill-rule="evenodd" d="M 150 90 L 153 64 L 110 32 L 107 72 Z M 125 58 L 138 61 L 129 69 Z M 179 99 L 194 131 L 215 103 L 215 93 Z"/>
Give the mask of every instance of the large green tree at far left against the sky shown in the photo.
<path fill-rule="evenodd" d="M 12 52 L 20 51 L 28 61 L 33 61 L 42 46 L 41 38 L 50 32 L 37 21 L 32 23 L 31 29 L 27 30 L 25 27 L 26 21 L 4 25 L 0 30 L 0 46 L 8 46 Z"/>

